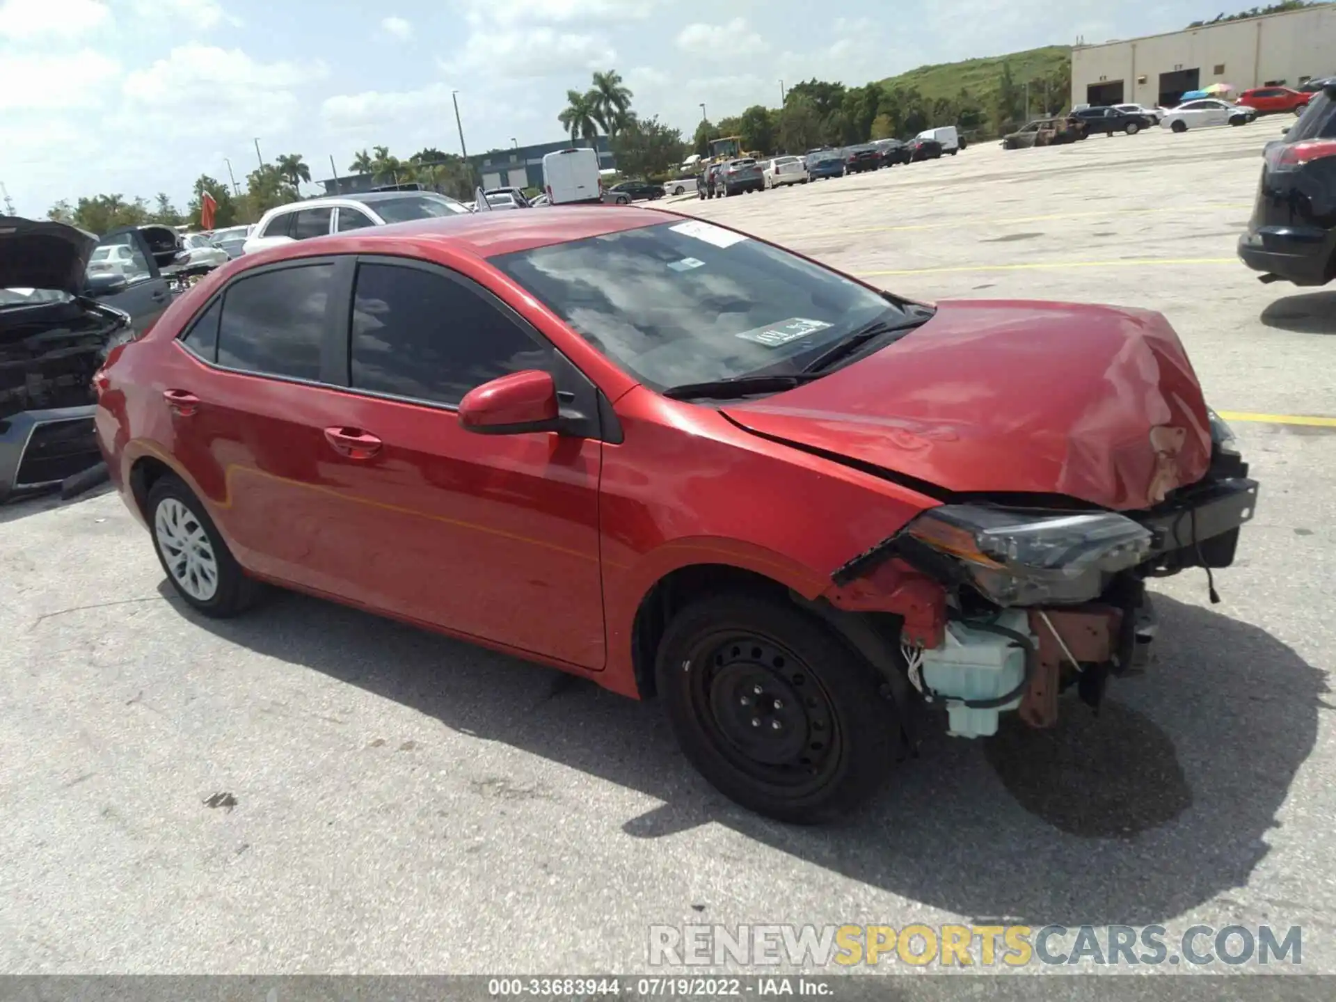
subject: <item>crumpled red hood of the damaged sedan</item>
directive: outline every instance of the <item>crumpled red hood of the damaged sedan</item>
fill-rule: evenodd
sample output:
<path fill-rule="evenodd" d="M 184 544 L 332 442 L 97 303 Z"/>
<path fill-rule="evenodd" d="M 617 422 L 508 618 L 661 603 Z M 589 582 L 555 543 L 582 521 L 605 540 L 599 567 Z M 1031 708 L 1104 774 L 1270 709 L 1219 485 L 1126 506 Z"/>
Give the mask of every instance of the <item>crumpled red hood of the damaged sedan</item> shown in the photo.
<path fill-rule="evenodd" d="M 951 493 L 1150 508 L 1210 464 L 1201 387 L 1149 310 L 943 302 L 887 347 L 724 413 L 743 428 Z"/>

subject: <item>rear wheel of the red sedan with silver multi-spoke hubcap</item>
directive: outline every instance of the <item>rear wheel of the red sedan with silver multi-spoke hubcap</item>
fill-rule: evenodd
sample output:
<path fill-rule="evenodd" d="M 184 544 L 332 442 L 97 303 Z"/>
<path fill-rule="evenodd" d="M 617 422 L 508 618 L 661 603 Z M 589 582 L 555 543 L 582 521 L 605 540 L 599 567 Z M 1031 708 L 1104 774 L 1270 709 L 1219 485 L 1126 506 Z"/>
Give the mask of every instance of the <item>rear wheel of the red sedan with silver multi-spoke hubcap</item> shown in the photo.
<path fill-rule="evenodd" d="M 246 576 L 204 505 L 178 477 L 163 476 L 154 484 L 146 512 L 158 562 L 192 609 L 227 619 L 262 595 L 263 585 Z"/>

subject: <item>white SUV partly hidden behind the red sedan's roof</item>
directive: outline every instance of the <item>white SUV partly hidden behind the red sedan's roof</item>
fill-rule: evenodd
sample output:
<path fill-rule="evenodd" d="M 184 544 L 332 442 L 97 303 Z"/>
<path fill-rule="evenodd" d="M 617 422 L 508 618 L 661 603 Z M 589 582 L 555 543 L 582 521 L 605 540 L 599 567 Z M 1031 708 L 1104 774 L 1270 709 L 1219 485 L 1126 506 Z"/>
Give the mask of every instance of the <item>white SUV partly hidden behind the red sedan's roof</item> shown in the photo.
<path fill-rule="evenodd" d="M 462 202 L 434 191 L 369 191 L 365 195 L 313 198 L 269 210 L 246 238 L 242 253 L 254 254 L 266 247 L 367 226 L 468 214 L 469 208 Z"/>

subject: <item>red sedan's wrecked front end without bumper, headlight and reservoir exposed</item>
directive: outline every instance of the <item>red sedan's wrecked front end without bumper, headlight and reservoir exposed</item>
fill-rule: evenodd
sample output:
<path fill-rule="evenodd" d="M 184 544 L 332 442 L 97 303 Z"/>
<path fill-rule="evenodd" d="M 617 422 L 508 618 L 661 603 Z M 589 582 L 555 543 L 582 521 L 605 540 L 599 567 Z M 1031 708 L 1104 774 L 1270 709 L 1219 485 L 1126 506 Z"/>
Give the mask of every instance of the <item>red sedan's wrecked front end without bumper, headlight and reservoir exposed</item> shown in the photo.
<path fill-rule="evenodd" d="M 902 671 L 949 731 L 997 732 L 1015 709 L 1051 727 L 1058 693 L 1098 707 L 1110 675 L 1141 671 L 1154 637 L 1146 578 L 1233 562 L 1257 482 L 1214 414 L 1210 470 L 1146 510 L 950 498 L 838 568 L 836 609 L 899 619 Z"/>

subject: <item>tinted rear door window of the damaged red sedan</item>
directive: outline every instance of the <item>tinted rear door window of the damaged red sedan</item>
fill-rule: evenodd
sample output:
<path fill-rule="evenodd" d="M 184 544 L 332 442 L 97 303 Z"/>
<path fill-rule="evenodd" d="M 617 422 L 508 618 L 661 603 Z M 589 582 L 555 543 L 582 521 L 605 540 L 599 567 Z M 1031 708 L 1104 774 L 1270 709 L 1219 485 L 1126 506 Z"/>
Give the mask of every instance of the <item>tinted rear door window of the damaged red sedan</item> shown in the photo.
<path fill-rule="evenodd" d="M 318 379 L 333 278 L 333 265 L 306 265 L 234 283 L 223 299 L 218 363 L 248 373 Z"/>

